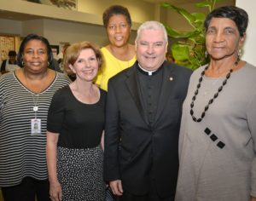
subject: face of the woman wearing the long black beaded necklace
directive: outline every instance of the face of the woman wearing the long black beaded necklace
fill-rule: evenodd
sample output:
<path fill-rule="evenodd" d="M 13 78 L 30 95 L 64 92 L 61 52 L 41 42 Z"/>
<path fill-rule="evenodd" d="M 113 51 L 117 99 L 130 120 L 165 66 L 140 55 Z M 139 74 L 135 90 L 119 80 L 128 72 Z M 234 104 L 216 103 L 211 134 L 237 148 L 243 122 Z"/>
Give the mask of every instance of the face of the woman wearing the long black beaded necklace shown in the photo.
<path fill-rule="evenodd" d="M 206 35 L 207 52 L 213 60 L 237 57 L 244 42 L 236 23 L 228 18 L 212 18 Z"/>

